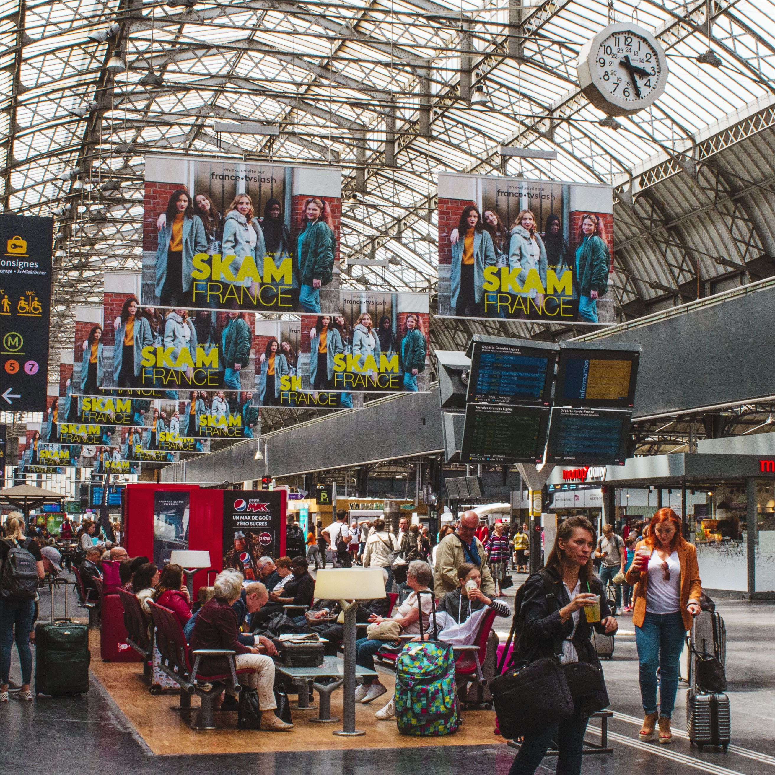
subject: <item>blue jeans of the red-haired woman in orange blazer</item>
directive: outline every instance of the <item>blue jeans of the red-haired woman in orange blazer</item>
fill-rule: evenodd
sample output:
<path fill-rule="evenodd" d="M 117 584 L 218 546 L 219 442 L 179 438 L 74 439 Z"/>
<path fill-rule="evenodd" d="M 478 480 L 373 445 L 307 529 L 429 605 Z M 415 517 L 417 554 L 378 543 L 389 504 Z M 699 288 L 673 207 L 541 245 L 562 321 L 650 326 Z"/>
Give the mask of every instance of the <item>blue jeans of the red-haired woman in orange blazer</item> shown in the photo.
<path fill-rule="evenodd" d="M 656 713 L 656 668 L 660 668 L 660 716 L 670 718 L 678 691 L 678 660 L 684 650 L 686 628 L 680 611 L 652 614 L 635 629 L 640 663 L 640 697 L 646 713 Z"/>

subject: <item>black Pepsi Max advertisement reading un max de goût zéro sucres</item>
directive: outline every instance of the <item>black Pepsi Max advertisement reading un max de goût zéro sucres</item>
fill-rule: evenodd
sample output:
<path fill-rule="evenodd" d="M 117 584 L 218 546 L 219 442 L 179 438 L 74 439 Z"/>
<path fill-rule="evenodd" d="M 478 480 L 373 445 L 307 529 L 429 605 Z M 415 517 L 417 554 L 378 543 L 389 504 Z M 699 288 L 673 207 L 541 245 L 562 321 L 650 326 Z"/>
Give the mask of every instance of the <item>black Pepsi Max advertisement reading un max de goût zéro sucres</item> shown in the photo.
<path fill-rule="evenodd" d="M 260 581 L 257 560 L 284 555 L 286 498 L 284 490 L 223 491 L 223 567 Z"/>

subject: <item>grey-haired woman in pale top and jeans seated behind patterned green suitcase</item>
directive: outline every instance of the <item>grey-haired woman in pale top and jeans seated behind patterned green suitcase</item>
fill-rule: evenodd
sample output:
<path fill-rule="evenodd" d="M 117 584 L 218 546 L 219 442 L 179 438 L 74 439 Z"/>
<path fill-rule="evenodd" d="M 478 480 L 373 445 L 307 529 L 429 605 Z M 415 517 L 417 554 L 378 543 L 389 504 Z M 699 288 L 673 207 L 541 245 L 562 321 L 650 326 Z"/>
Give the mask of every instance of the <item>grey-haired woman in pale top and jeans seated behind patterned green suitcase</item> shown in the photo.
<path fill-rule="evenodd" d="M 433 583 L 433 571 L 429 564 L 422 560 L 412 560 L 409 563 L 406 583 L 412 588 L 412 594 L 409 594 L 408 598 L 393 611 L 392 616 L 371 615 L 369 617 L 370 624 L 392 620 L 401 625 L 405 635 L 419 635 L 420 609 L 417 598 L 418 594 L 423 592 L 425 594 L 420 594 L 420 600 L 422 601 L 422 632 L 428 629 L 429 618 L 433 608 L 433 594 L 429 589 L 430 584 Z M 367 668 L 367 670 L 374 670 L 374 654 L 384 645 L 384 640 L 374 638 L 361 638 L 357 640 L 355 643 L 356 664 Z M 362 686 L 356 688 L 355 701 L 367 704 L 376 700 L 377 697 L 381 697 L 386 691 L 387 688 L 380 683 L 379 678 L 375 678 L 371 683 L 366 684 L 364 682 Z"/>

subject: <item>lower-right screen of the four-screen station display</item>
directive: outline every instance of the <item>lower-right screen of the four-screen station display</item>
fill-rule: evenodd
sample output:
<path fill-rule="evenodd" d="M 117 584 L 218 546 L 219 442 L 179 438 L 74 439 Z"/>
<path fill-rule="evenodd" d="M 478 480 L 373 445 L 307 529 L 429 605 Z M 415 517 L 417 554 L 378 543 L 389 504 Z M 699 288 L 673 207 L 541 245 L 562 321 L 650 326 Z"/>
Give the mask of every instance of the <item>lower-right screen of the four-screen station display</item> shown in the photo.
<path fill-rule="evenodd" d="M 546 462 L 624 465 L 630 418 L 617 409 L 553 408 Z"/>

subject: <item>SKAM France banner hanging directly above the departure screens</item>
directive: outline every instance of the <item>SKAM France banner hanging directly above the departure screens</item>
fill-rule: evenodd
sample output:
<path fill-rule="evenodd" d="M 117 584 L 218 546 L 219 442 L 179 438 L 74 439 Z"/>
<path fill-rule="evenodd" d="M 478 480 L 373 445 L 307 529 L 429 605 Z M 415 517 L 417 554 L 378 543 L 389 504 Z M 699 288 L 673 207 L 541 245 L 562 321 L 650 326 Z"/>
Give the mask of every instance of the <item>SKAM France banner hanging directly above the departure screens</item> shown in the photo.
<path fill-rule="evenodd" d="M 439 174 L 439 315 L 611 325 L 611 191 Z"/>

